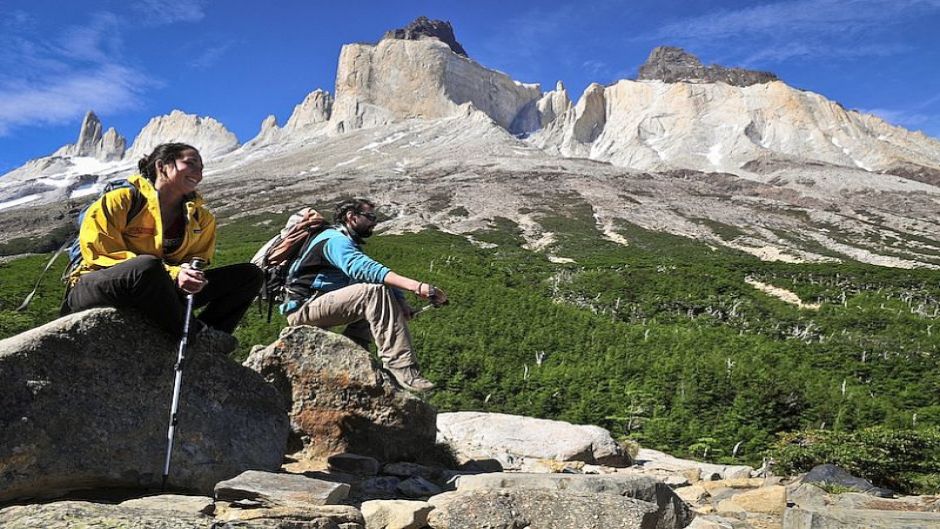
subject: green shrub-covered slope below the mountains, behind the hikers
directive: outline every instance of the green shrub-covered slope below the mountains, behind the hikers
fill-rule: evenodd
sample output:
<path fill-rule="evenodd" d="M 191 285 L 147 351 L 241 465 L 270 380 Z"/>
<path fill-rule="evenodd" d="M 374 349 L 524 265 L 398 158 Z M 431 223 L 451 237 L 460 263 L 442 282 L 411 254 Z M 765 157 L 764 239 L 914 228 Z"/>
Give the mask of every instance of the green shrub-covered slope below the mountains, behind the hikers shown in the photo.
<path fill-rule="evenodd" d="M 589 208 L 544 212 L 550 249 L 521 248 L 499 219 L 481 249 L 437 231 L 377 237 L 376 258 L 445 288 L 452 304 L 412 330 L 442 411 L 486 410 L 601 424 L 676 454 L 755 462 L 779 432 L 940 425 L 940 272 L 860 264 L 764 263 L 706 244 L 619 226 L 599 239 Z M 283 222 L 221 229 L 217 264 L 247 260 Z M 12 312 L 45 257 L 0 265 L 0 337 L 55 317 L 56 270 L 30 309 Z M 753 289 L 790 289 L 819 311 Z M 283 319 L 250 311 L 243 358 Z M 916 414 L 916 417 L 915 417 Z"/>

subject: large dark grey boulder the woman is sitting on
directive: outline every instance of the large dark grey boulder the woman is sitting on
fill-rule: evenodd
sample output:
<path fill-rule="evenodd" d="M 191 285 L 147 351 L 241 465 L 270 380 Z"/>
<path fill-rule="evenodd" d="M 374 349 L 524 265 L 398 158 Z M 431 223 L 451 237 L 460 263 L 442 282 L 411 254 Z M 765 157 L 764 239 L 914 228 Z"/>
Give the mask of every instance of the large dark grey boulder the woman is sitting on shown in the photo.
<path fill-rule="evenodd" d="M 93 309 L 0 341 L 0 501 L 160 484 L 177 342 L 141 316 Z M 280 395 L 213 343 L 183 372 L 168 485 L 211 492 L 280 467 Z"/>

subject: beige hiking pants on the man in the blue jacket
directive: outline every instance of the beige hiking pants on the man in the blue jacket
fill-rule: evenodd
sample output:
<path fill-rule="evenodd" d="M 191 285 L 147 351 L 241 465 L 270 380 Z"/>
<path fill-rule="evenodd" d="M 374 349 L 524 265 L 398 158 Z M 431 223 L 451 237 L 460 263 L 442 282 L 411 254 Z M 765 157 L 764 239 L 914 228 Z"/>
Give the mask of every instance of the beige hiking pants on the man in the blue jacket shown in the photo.
<path fill-rule="evenodd" d="M 317 296 L 288 314 L 287 323 L 323 329 L 346 325 L 343 334 L 359 345 L 375 340 L 386 366 L 417 363 L 405 311 L 385 285 L 357 283 Z"/>

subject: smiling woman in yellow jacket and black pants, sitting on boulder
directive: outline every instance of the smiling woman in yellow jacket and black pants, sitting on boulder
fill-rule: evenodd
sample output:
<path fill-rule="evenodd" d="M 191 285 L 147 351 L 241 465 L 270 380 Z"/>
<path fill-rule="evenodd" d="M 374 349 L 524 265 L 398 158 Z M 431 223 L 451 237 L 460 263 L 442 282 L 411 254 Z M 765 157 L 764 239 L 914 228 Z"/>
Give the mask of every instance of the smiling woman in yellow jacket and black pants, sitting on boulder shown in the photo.
<path fill-rule="evenodd" d="M 211 262 L 215 253 L 215 217 L 196 193 L 199 151 L 165 143 L 137 166 L 140 174 L 129 178 L 136 192 L 118 188 L 89 206 L 79 231 L 82 264 L 70 278 L 65 308 L 134 308 L 180 336 L 192 293 L 194 307 L 205 309 L 197 318 L 202 325 L 190 327 L 231 333 L 261 287 L 261 271 L 251 263 L 189 266 L 195 257 Z"/>

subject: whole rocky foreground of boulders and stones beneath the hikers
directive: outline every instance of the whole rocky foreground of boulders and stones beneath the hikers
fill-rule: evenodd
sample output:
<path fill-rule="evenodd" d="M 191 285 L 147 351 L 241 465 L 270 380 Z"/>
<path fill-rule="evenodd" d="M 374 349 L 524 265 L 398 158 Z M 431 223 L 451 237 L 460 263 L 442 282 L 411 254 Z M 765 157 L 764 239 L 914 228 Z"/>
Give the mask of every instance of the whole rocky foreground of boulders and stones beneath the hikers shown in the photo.
<path fill-rule="evenodd" d="M 836 468 L 775 477 L 594 426 L 438 414 L 318 329 L 285 329 L 247 367 L 228 347 L 193 346 L 164 494 L 168 336 L 96 309 L 0 341 L 0 527 L 940 527 L 940 498 Z"/>

